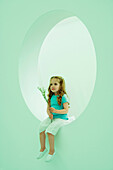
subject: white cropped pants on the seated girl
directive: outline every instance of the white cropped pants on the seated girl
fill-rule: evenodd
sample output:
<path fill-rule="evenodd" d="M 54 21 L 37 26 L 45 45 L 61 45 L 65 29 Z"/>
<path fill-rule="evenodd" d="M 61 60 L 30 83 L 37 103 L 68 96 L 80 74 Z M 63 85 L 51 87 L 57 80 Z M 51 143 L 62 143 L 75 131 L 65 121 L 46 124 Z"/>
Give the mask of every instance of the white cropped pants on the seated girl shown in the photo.
<path fill-rule="evenodd" d="M 64 119 L 60 119 L 60 118 L 52 119 L 52 122 L 51 122 L 51 119 L 48 117 L 40 123 L 39 133 L 45 131 L 45 133 L 48 132 L 53 135 L 56 135 L 59 128 L 67 123 L 68 123 L 68 120 L 64 120 Z"/>

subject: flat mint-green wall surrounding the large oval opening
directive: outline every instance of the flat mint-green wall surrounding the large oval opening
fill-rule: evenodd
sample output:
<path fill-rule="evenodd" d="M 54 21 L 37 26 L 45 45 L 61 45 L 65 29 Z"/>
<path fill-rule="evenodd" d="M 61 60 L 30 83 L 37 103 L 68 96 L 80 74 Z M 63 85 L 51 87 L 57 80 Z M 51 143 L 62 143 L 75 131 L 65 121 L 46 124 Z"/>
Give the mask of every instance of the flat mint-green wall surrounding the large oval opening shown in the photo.
<path fill-rule="evenodd" d="M 42 14 L 72 11 L 86 25 L 97 55 L 94 93 L 84 113 L 56 136 L 53 162 L 37 160 L 40 121 L 18 80 L 21 44 Z M 113 1 L 0 1 L 0 170 L 113 170 Z M 75 103 L 76 104 L 76 103 Z"/>

